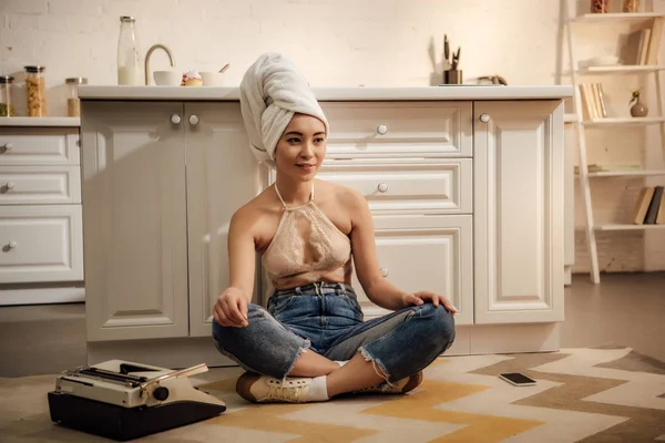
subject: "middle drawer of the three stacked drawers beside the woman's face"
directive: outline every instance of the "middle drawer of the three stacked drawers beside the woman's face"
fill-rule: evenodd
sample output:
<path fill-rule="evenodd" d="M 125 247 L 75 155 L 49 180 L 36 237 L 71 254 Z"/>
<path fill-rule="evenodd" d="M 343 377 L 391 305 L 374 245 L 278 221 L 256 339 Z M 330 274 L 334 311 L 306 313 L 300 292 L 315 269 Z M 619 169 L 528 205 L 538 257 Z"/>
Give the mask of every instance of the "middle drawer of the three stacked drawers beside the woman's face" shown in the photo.
<path fill-rule="evenodd" d="M 472 174 L 471 158 L 328 159 L 319 178 L 360 192 L 372 212 L 471 214 Z"/>

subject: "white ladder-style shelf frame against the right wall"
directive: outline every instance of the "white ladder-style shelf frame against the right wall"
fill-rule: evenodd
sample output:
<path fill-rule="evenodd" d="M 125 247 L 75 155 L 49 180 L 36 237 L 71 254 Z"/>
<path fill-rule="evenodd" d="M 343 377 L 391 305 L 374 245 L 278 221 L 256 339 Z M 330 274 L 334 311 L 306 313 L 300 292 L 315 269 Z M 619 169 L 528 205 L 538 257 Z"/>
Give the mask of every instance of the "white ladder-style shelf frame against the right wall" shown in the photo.
<path fill-rule="evenodd" d="M 665 175 L 663 169 L 642 169 L 642 171 L 612 171 L 612 172 L 589 172 L 587 152 L 586 152 L 586 136 L 585 130 L 593 126 L 623 126 L 623 125 L 654 125 L 661 126 L 661 141 L 663 145 L 663 155 L 665 157 L 665 115 L 664 115 L 664 101 L 665 90 L 661 81 L 661 73 L 665 71 L 665 65 L 658 60 L 657 64 L 653 65 L 612 65 L 612 66 L 585 66 L 580 68 L 577 60 L 577 47 L 575 39 L 575 31 L 577 27 L 584 25 L 585 23 L 595 24 L 607 24 L 616 25 L 620 23 L 634 24 L 636 27 L 648 27 L 653 28 L 656 20 L 664 20 L 665 13 L 659 12 L 638 12 L 638 13 L 585 13 L 582 16 L 575 16 L 572 13 L 574 9 L 570 1 L 564 1 L 565 14 L 567 20 L 565 21 L 566 39 L 570 59 L 570 72 L 569 75 L 572 79 L 574 85 L 574 112 L 565 115 L 565 122 L 574 125 L 577 140 L 577 151 L 580 154 L 580 167 L 576 176 L 580 178 L 580 185 L 584 199 L 584 217 L 585 217 L 585 235 L 586 245 L 589 247 L 589 256 L 591 258 L 591 280 L 594 284 L 601 281 L 600 267 L 598 267 L 598 255 L 596 246 L 596 231 L 621 231 L 621 230 L 651 230 L 651 229 L 665 229 L 665 225 L 633 225 L 633 224 L 601 224 L 596 225 L 593 215 L 593 199 L 590 187 L 590 178 L 596 177 L 647 177 L 647 176 L 659 176 Z M 652 35 L 653 39 L 653 35 Z M 661 43 L 665 44 L 665 37 Z M 580 94 L 581 78 L 584 75 L 626 75 L 626 74 L 644 74 L 651 75 L 658 97 L 657 109 L 655 110 L 655 116 L 647 117 L 628 117 L 628 119 L 593 119 L 584 120 L 584 107 L 582 97 Z"/>

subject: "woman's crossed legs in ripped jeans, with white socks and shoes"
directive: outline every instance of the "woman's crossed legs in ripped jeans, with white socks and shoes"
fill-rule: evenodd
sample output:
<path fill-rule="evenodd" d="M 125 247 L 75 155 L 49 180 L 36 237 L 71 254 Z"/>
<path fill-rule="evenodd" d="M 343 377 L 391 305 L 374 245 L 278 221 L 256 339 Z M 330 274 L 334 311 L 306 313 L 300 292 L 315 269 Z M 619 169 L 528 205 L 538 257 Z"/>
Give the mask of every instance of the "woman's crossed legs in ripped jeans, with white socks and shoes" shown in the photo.
<path fill-rule="evenodd" d="M 270 299 L 268 310 L 249 305 L 245 328 L 213 324 L 219 352 L 248 371 L 237 391 L 249 401 L 408 392 L 454 340 L 452 313 L 429 302 L 362 321 L 355 293 L 319 288 Z"/>

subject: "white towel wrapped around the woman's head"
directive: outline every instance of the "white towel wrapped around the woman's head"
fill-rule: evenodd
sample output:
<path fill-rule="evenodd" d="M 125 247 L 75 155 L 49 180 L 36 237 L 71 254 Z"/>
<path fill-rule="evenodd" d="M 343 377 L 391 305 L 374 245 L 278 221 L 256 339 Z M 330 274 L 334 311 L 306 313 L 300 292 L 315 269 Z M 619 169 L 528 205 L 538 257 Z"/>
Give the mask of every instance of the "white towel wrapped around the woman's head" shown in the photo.
<path fill-rule="evenodd" d="M 307 79 L 288 59 L 276 52 L 260 55 L 241 82 L 241 111 L 256 158 L 275 165 L 275 146 L 294 114 L 328 121 Z"/>

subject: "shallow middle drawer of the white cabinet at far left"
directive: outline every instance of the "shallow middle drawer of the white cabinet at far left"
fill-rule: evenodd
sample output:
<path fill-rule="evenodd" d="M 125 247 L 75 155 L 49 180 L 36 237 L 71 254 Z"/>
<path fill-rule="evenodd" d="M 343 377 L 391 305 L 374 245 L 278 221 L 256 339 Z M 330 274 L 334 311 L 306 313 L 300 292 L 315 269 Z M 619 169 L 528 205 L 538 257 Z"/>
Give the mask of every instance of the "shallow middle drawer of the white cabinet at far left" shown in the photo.
<path fill-rule="evenodd" d="M 79 166 L 0 166 L 0 205 L 81 203 Z"/>

